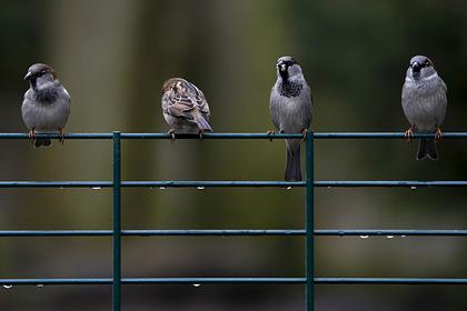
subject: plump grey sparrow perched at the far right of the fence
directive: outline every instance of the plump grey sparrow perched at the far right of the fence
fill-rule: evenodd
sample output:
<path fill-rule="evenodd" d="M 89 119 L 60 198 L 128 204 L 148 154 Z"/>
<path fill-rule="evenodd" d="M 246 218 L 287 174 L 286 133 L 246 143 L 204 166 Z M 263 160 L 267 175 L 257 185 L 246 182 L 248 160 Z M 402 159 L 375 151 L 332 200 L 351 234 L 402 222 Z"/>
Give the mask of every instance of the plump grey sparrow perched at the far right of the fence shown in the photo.
<path fill-rule="evenodd" d="M 425 56 L 411 58 L 403 87 L 403 110 L 410 128 L 405 136 L 411 140 L 414 129 L 421 133 L 435 133 L 441 138 L 441 124 L 446 114 L 447 87 L 436 72 L 433 61 Z M 438 159 L 436 140 L 420 139 L 417 160 Z"/>

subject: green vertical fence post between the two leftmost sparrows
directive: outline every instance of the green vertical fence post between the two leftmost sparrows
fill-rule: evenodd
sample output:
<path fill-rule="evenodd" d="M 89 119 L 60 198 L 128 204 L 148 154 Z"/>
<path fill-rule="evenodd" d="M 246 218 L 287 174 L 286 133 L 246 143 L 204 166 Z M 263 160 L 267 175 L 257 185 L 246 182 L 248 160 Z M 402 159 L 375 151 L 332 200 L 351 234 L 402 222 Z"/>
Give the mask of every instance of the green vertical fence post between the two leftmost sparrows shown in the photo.
<path fill-rule="evenodd" d="M 121 143 L 120 132 L 113 132 L 113 311 L 121 308 Z"/>

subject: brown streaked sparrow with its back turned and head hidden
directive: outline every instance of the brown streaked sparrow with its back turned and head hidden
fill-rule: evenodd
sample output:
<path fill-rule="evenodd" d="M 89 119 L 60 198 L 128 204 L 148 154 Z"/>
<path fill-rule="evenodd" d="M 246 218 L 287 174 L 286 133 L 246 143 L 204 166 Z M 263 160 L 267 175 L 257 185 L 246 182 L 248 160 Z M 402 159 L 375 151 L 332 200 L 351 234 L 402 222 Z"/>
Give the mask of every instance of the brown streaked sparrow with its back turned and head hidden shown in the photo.
<path fill-rule="evenodd" d="M 202 138 L 203 132 L 212 131 L 205 94 L 185 79 L 171 78 L 163 82 L 161 108 L 172 140 L 175 132 L 198 133 Z"/>

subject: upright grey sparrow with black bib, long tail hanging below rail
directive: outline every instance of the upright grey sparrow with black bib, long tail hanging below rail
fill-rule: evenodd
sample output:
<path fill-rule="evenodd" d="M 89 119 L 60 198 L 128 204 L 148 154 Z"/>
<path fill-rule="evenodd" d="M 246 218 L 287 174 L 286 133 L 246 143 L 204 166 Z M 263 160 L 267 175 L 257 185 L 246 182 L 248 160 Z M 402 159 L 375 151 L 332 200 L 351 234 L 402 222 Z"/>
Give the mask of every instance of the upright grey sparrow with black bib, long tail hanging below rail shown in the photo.
<path fill-rule="evenodd" d="M 302 133 L 311 123 L 311 91 L 301 67 L 291 57 L 281 57 L 276 64 L 277 80 L 272 87 L 269 112 L 280 133 Z M 301 180 L 300 139 L 286 139 L 286 181 Z"/>

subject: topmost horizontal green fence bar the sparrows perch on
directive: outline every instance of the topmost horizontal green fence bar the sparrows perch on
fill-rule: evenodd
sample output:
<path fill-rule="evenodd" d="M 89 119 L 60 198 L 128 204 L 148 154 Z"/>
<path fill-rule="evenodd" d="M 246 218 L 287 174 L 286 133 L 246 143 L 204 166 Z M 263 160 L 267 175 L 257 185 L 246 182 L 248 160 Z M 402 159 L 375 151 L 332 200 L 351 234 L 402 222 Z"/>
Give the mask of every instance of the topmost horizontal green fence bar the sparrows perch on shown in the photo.
<path fill-rule="evenodd" d="M 38 133 L 38 138 L 59 139 L 58 133 Z M 203 133 L 202 139 L 302 139 L 301 133 Z M 414 138 L 435 138 L 415 133 Z M 445 132 L 443 139 L 466 139 L 467 132 Z M 0 133 L 0 139 L 29 139 L 28 133 Z M 67 133 L 64 139 L 112 139 L 112 133 Z M 121 133 L 121 139 L 171 139 L 168 133 Z M 199 139 L 198 134 L 176 134 L 176 139 Z M 314 132 L 314 139 L 406 139 L 404 132 Z"/>

